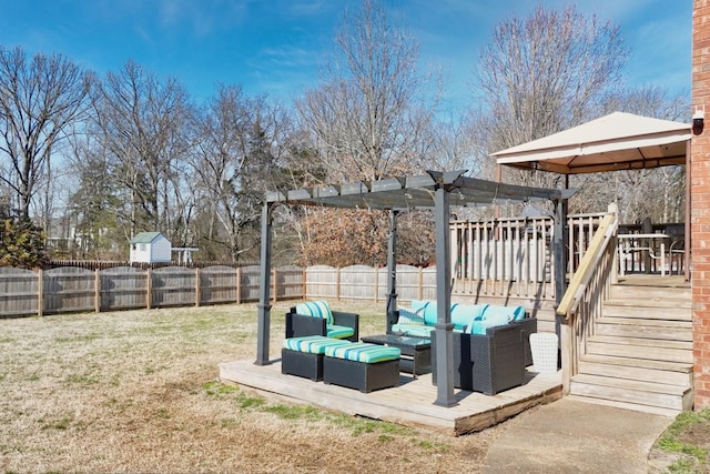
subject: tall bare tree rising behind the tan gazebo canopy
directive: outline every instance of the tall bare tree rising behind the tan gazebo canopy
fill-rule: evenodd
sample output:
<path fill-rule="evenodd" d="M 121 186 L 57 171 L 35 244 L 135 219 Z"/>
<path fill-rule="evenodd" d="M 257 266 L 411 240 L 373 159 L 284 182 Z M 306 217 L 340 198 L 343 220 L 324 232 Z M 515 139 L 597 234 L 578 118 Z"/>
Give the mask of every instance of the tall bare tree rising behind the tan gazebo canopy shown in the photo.
<path fill-rule="evenodd" d="M 538 6 L 526 19 L 503 21 L 476 74 L 479 142 L 494 152 L 599 117 L 605 98 L 621 84 L 627 58 L 618 27 L 575 7 L 557 12 Z M 549 173 L 508 179 L 558 184 Z"/>

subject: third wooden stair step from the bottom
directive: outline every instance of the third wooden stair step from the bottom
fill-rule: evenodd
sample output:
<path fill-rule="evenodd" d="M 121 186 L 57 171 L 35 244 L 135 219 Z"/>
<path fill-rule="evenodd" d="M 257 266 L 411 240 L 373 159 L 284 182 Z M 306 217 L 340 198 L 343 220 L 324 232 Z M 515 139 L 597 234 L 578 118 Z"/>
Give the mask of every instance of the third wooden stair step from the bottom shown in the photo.
<path fill-rule="evenodd" d="M 587 353 L 692 364 L 692 342 L 594 335 Z"/>

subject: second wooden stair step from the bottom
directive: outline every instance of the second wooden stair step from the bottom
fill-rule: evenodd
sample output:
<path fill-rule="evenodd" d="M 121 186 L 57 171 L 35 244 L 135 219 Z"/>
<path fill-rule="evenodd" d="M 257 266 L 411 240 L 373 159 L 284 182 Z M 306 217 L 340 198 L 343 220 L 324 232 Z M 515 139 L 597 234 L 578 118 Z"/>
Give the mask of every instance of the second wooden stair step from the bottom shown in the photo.
<path fill-rule="evenodd" d="M 579 373 L 692 387 L 692 365 L 611 355 L 582 355 Z"/>

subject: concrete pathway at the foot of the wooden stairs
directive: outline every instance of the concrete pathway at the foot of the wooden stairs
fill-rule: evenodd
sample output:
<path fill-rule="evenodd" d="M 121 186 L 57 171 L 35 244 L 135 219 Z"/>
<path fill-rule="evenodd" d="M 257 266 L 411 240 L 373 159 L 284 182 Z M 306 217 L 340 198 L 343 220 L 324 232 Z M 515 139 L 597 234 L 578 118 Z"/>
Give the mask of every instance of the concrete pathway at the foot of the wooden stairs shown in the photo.
<path fill-rule="evenodd" d="M 643 473 L 668 416 L 569 397 L 510 421 L 483 473 Z"/>

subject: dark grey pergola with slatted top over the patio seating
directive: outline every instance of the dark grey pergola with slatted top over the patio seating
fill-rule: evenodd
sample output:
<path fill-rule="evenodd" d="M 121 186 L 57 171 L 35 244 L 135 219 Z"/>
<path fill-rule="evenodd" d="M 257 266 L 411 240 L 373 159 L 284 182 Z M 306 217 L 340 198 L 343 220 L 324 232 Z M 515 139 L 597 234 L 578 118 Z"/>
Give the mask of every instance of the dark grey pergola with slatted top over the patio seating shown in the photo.
<path fill-rule="evenodd" d="M 389 212 L 390 232 L 387 256 L 387 329 L 397 312 L 396 293 L 396 218 L 397 213 L 415 209 L 430 209 L 435 216 L 436 238 L 436 302 L 435 324 L 437 361 L 437 397 L 434 402 L 442 406 L 456 404 L 454 397 L 453 324 L 450 319 L 450 232 L 452 206 L 504 204 L 509 202 L 550 201 L 555 206 L 554 254 L 556 261 L 556 294 L 561 297 L 565 285 L 565 252 L 562 225 L 566 221 L 567 190 L 549 190 L 504 184 L 464 177 L 466 170 L 398 177 L 372 182 L 331 184 L 287 192 L 266 193 L 262 209 L 261 236 L 261 289 L 257 329 L 257 365 L 271 363 L 268 360 L 271 317 L 271 240 L 272 211 L 277 204 L 320 205 Z"/>

